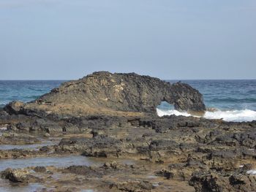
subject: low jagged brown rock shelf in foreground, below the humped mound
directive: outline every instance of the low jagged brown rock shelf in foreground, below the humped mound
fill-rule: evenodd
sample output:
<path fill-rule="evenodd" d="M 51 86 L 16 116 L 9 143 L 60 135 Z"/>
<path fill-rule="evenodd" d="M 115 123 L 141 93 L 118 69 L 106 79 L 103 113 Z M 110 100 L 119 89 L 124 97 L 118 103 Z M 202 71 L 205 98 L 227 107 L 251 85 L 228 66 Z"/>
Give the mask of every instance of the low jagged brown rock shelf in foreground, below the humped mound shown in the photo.
<path fill-rule="evenodd" d="M 10 116 L 13 116 L 10 120 L 17 117 L 20 122 L 15 120 L 7 126 L 0 141 L 34 143 L 37 140 L 29 134 L 39 135 L 41 131 L 41 134 L 46 131 L 50 137 L 56 134 L 62 139 L 59 144 L 39 150 L 0 150 L 2 159 L 83 154 L 91 156 L 90 159 L 112 161 L 97 168 L 70 166 L 58 171 L 37 167 L 29 172 L 36 177 L 45 175 L 45 181 L 54 186 L 66 184 L 66 174 L 72 174 L 68 178 L 72 178 L 69 182 L 75 188 L 70 191 L 79 191 L 88 183 L 94 183 L 91 188 L 99 188 L 99 191 L 162 192 L 170 191 L 172 186 L 179 191 L 191 192 L 256 190 L 256 121 L 233 123 L 176 115 L 143 118 L 91 115 L 61 120 Z M 10 130 L 14 134 L 9 133 Z M 26 132 L 26 135 L 23 131 L 30 133 Z M 136 164 L 124 166 L 117 163 L 127 158 L 132 158 Z M 64 172 L 64 180 L 56 184 L 56 180 L 49 177 L 52 171 Z M 2 177 L 23 180 L 23 183 L 34 180 L 30 176 L 15 179 L 16 174 L 13 177 L 12 172 Z M 73 179 L 74 175 L 76 179 Z M 80 180 L 80 175 L 84 180 Z M 182 186 L 177 187 L 177 183 Z"/>

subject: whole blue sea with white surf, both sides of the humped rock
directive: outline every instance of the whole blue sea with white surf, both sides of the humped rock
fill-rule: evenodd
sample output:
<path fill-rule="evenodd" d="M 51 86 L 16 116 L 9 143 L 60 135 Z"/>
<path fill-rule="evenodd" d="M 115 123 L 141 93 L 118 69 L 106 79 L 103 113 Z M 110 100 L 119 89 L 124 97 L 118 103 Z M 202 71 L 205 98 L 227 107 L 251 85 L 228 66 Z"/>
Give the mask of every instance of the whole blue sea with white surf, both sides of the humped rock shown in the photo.
<path fill-rule="evenodd" d="M 0 107 L 10 101 L 33 101 L 67 80 L 0 80 Z M 167 80 L 186 82 L 203 94 L 207 111 L 204 118 L 226 121 L 256 120 L 256 80 Z M 157 114 L 185 115 L 162 102 Z"/>

